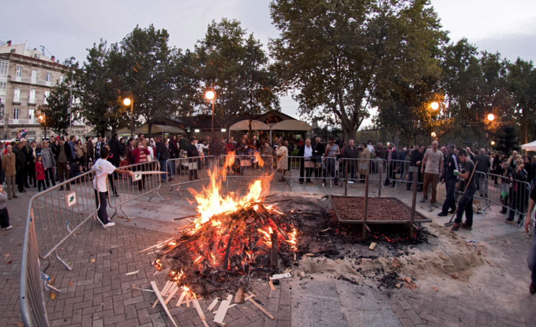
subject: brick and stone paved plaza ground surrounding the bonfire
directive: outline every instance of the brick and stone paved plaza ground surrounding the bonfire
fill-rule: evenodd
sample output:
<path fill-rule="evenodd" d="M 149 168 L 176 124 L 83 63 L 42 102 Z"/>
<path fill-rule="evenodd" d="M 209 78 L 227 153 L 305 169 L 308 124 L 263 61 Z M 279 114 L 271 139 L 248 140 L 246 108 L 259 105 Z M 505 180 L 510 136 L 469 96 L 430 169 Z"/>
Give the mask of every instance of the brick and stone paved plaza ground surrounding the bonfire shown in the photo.
<path fill-rule="evenodd" d="M 359 187 L 353 186 L 349 194 L 361 194 Z M 23 224 L 33 190 L 8 203 L 13 229 L 1 231 L 1 326 L 22 323 L 18 292 Z M 271 193 L 320 198 L 327 190 L 274 182 Z M 159 287 L 164 285 L 163 274 L 154 276 L 154 254 L 139 251 L 171 237 L 169 232 L 181 226 L 165 223 L 173 215 L 193 212 L 184 200 L 187 194 L 166 191 L 161 191 L 164 203 L 156 199 L 148 203 L 142 198 L 125 207 L 131 221 L 114 218 L 118 225 L 106 230 L 93 221 L 84 225 L 60 250 L 74 266 L 73 271 L 55 258 L 51 260 L 47 273 L 62 290 L 55 299 L 45 292 L 52 326 L 173 326 L 160 305 L 152 309 L 154 293 L 133 288 L 150 289 L 152 280 Z M 342 193 L 341 188 L 329 191 Z M 410 201 L 409 192 L 392 188 L 384 189 L 382 196 Z M 437 210 L 423 205 L 417 209 L 433 220 L 430 230 L 445 229 L 441 227 L 445 218 L 440 220 Z M 536 297 L 528 292 L 530 277 L 525 261 L 530 240 L 522 230 L 506 225 L 498 210 L 494 207 L 476 215 L 472 232 L 445 232 L 453 244 L 466 247 L 468 239 L 486 246 L 485 263 L 474 267 L 467 279 L 449 275 L 418 278 L 415 290 L 398 290 L 378 288 L 374 280 L 353 285 L 322 273 L 310 273 L 303 279 L 295 274 L 276 285 L 276 291 L 270 291 L 266 282 L 252 283 L 258 302 L 275 320 L 246 302 L 229 309 L 224 322 L 228 326 L 535 326 Z M 135 270 L 139 273 L 125 275 Z M 210 302 L 212 298 L 200 300 L 208 324 L 217 326 L 214 314 L 207 311 Z M 193 307 L 169 307 L 179 326 L 203 326 Z"/>

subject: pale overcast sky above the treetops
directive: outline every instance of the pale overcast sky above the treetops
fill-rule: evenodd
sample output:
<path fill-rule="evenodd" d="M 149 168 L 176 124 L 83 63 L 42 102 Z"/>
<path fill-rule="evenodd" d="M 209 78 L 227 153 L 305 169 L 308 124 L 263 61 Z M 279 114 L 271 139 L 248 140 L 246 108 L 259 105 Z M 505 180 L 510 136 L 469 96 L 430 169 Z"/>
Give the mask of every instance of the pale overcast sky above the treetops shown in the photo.
<path fill-rule="evenodd" d="M 47 57 L 60 61 L 86 58 L 86 49 L 101 38 L 120 42 L 136 25 L 165 28 L 169 44 L 193 49 L 207 25 L 221 18 L 237 19 L 242 28 L 266 46 L 278 37 L 271 24 L 268 0 L 47 0 L 4 1 L 0 41 L 45 46 Z M 536 58 L 535 0 L 432 0 L 443 28 L 453 41 L 467 37 L 480 50 L 501 52 L 515 60 Z M 283 112 L 296 116 L 297 105 L 282 100 Z"/>

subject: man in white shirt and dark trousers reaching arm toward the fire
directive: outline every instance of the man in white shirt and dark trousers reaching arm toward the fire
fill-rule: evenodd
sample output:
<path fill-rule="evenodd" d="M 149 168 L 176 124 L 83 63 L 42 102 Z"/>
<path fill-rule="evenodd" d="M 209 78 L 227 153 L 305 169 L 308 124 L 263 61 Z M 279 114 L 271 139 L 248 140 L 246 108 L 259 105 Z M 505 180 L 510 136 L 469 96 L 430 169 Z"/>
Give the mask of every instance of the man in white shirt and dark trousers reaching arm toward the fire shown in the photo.
<path fill-rule="evenodd" d="M 101 148 L 101 157 L 93 165 L 93 170 L 95 170 L 95 177 L 93 178 L 93 189 L 95 189 L 95 198 L 98 198 L 98 203 L 101 203 L 101 208 L 98 209 L 98 219 L 101 220 L 104 227 L 112 227 L 115 225 L 115 222 L 110 222 L 108 220 L 108 212 L 106 207 L 108 206 L 108 175 L 117 172 L 118 174 L 130 174 L 134 176 L 132 170 L 120 170 L 115 168 L 111 162 L 108 160 L 108 155 L 110 150 L 105 146 Z"/>

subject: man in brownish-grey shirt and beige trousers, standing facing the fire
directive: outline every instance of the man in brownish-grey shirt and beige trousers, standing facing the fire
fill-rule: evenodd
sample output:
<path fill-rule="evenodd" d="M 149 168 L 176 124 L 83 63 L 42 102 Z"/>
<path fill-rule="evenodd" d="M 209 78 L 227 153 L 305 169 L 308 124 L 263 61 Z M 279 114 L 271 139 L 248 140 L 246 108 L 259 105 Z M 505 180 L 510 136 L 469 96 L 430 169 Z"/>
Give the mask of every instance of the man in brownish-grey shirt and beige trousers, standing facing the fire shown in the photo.
<path fill-rule="evenodd" d="M 421 202 L 428 199 L 428 185 L 432 185 L 432 198 L 430 204 L 434 207 L 439 207 L 435 196 L 438 194 L 438 182 L 443 174 L 443 153 L 438 150 L 438 141 L 432 142 L 432 148 L 426 150 L 421 166 L 421 173 L 424 173 L 423 182 L 423 198 Z"/>

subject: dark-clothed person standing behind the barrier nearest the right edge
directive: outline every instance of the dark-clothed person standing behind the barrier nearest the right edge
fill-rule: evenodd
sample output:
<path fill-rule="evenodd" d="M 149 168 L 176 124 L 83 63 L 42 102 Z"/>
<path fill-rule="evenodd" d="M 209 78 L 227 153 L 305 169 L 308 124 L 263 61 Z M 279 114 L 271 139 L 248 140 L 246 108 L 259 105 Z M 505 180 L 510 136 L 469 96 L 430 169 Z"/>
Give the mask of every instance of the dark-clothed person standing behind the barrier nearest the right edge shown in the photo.
<path fill-rule="evenodd" d="M 523 160 L 517 160 L 515 170 L 510 173 L 510 213 L 508 214 L 508 219 L 506 219 L 507 221 L 513 221 L 515 210 L 519 212 L 518 224 L 523 221 L 528 195 L 528 189 L 523 182 L 527 182 L 527 179 L 528 175 Z"/>

